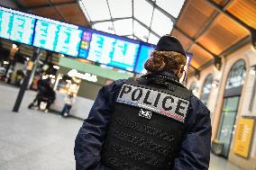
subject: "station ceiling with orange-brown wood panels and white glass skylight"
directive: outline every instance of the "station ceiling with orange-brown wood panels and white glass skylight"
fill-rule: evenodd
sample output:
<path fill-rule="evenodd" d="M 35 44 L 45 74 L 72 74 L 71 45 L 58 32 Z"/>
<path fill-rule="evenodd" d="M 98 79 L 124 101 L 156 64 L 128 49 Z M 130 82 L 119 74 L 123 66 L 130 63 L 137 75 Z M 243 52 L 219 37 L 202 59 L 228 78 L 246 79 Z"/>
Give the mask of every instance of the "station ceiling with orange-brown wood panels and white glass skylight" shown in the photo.
<path fill-rule="evenodd" d="M 159 40 L 164 29 L 166 33 L 178 37 L 187 52 L 193 53 L 190 76 L 195 70 L 214 64 L 216 59 L 250 42 L 251 33 L 255 33 L 256 29 L 255 0 L 180 0 L 179 4 L 177 0 L 107 0 L 105 4 L 100 4 L 100 1 L 105 0 L 15 0 L 25 12 L 151 43 Z M 172 2 L 177 4 L 175 8 L 171 8 Z M 122 10 L 119 9 L 121 7 Z M 93 15 L 97 10 L 100 13 L 105 10 L 105 14 Z M 153 17 L 157 15 L 155 13 L 167 18 L 154 22 L 157 20 Z M 122 24 L 119 26 L 121 30 L 118 30 L 116 22 L 120 21 L 123 25 L 124 21 L 130 22 L 132 25 L 127 25 L 126 29 L 132 27 L 133 30 L 125 34 Z M 134 30 L 137 22 L 142 26 L 141 30 Z M 100 24 L 104 26 L 98 27 Z"/>

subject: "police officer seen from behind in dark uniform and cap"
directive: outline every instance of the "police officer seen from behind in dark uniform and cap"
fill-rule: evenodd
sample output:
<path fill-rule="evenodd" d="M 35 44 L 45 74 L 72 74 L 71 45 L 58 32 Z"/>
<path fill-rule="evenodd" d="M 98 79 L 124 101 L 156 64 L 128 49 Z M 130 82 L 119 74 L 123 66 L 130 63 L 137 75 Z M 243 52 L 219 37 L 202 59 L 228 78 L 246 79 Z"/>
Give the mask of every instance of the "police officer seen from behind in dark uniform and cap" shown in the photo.
<path fill-rule="evenodd" d="M 206 170 L 211 121 L 206 106 L 178 80 L 187 58 L 163 36 L 137 79 L 98 93 L 75 144 L 77 170 Z"/>

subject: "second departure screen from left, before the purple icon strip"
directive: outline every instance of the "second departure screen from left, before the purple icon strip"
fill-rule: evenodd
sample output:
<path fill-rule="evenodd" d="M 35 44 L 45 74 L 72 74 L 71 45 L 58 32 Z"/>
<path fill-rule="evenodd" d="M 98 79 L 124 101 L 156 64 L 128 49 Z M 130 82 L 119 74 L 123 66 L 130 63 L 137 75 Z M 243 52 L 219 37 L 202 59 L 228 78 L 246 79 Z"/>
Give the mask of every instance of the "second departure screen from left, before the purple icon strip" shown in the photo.
<path fill-rule="evenodd" d="M 33 45 L 69 56 L 78 56 L 82 31 L 54 22 L 38 20 Z"/>

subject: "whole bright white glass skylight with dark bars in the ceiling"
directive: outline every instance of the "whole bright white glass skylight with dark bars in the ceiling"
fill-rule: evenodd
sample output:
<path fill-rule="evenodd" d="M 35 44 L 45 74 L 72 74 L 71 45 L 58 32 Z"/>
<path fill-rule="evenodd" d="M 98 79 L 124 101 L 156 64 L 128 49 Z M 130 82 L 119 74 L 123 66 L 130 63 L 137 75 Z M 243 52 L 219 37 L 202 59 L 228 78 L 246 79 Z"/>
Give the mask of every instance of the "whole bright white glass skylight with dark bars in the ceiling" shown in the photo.
<path fill-rule="evenodd" d="M 185 0 L 151 1 L 177 17 Z M 113 18 L 131 17 L 131 19 L 110 22 L 111 16 L 107 3 Z M 149 39 L 149 42 L 156 43 L 159 40 L 159 36 L 169 34 L 173 28 L 170 18 L 157 8 L 154 9 L 153 5 L 147 0 L 80 0 L 79 4 L 87 19 L 93 24 L 92 27 L 99 31 L 115 33 L 121 36 L 133 35 L 135 39 L 144 41 Z M 133 14 L 134 18 L 132 19 Z M 95 21 L 103 22 L 94 23 Z M 149 36 L 149 30 L 146 27 L 151 27 L 151 31 L 159 36 L 155 36 L 152 32 L 151 36 Z"/>

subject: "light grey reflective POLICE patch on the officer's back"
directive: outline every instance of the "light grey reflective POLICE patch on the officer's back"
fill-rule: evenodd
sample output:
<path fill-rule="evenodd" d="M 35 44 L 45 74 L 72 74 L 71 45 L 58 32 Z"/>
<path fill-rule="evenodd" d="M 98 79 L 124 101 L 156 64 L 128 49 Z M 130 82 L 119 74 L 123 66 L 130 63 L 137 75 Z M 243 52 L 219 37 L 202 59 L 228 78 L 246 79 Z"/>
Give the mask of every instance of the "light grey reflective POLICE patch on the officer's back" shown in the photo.
<path fill-rule="evenodd" d="M 117 98 L 117 103 L 125 103 L 147 109 L 184 122 L 187 116 L 189 101 L 134 85 L 124 84 Z"/>

